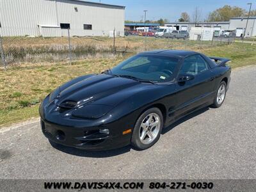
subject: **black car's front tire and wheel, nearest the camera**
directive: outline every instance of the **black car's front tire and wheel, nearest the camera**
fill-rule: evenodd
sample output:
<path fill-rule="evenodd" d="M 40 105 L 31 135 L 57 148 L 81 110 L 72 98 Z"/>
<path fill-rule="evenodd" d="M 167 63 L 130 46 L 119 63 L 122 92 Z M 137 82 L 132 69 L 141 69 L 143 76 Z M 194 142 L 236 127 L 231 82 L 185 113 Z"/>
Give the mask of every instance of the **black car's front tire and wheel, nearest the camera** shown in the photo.
<path fill-rule="evenodd" d="M 152 147 L 160 138 L 163 114 L 158 108 L 150 108 L 137 120 L 132 132 L 131 144 L 138 150 Z"/>

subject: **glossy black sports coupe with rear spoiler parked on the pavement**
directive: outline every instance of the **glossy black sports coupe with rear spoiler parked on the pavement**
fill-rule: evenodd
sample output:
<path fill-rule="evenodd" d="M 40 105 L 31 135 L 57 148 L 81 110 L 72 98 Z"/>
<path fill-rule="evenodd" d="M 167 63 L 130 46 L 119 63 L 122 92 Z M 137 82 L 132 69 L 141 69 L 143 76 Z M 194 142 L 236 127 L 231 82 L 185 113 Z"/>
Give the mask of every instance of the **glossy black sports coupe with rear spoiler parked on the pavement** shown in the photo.
<path fill-rule="evenodd" d="M 53 142 L 87 150 L 151 147 L 163 127 L 223 104 L 227 61 L 193 51 L 141 52 L 47 95 L 40 105 L 42 132 Z"/>

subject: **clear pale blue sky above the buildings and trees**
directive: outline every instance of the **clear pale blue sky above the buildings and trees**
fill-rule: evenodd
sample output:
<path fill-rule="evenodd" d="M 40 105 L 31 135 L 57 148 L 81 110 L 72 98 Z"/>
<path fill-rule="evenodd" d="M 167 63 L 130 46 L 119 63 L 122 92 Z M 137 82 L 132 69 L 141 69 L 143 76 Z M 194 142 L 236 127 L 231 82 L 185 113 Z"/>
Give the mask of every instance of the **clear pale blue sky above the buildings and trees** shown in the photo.
<path fill-rule="evenodd" d="M 247 3 L 253 3 L 252 9 L 256 9 L 256 1 L 253 0 L 88 0 L 107 4 L 118 4 L 125 6 L 125 20 L 141 20 L 143 10 L 148 10 L 148 20 L 168 19 L 170 22 L 178 20 L 181 12 L 192 15 L 196 6 L 202 11 L 202 19 L 208 13 L 225 4 L 239 6 L 245 10 L 249 9 Z"/>

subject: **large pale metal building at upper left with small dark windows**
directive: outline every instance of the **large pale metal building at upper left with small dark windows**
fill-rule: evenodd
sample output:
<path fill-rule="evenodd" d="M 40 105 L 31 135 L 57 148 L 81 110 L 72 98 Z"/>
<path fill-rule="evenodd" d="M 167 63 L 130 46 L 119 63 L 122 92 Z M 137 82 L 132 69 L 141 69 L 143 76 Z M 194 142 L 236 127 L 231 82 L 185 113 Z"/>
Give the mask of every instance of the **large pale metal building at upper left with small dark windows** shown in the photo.
<path fill-rule="evenodd" d="M 124 36 L 125 6 L 82 0 L 0 0 L 2 36 Z"/>

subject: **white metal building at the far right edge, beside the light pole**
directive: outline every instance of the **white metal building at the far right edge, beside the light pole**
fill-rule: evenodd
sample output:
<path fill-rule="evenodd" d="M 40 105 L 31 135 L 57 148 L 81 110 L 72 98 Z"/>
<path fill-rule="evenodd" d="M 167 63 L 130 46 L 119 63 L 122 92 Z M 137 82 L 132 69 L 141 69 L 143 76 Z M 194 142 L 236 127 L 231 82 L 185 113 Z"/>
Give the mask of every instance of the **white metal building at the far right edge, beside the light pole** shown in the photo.
<path fill-rule="evenodd" d="M 247 28 L 246 28 L 246 22 Z M 237 33 L 243 35 L 243 32 L 246 28 L 244 36 L 256 36 L 256 17 L 234 17 L 230 19 L 230 30 L 236 30 Z M 239 35 L 240 36 L 240 35 Z"/>

